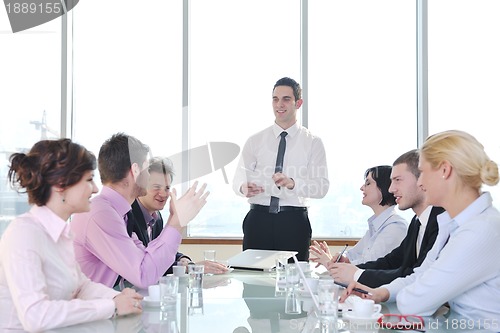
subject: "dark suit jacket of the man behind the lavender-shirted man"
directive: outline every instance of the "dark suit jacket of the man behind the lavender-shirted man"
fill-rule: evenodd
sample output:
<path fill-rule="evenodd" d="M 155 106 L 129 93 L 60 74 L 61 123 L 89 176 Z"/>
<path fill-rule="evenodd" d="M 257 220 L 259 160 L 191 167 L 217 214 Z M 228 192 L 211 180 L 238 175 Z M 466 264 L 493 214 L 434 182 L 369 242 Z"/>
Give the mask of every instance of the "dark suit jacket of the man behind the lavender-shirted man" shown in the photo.
<path fill-rule="evenodd" d="M 161 217 L 160 212 L 158 212 L 158 219 L 153 225 L 152 238 L 155 239 L 156 237 L 158 237 L 162 230 L 163 218 Z M 135 232 L 144 246 L 148 246 L 148 243 L 151 241 L 148 236 L 148 226 L 146 220 L 144 219 L 144 214 L 142 213 L 141 206 L 139 206 L 139 202 L 137 200 L 132 203 L 132 218 L 129 214 L 129 218 L 127 221 L 127 232 L 129 236 L 132 236 L 132 232 Z M 191 258 L 189 258 L 188 256 L 177 252 L 177 254 L 175 255 L 175 262 L 172 264 L 172 266 L 176 266 L 177 262 L 181 258 L 188 258 L 189 260 L 191 260 Z M 172 273 L 172 266 L 168 268 L 165 274 Z"/>

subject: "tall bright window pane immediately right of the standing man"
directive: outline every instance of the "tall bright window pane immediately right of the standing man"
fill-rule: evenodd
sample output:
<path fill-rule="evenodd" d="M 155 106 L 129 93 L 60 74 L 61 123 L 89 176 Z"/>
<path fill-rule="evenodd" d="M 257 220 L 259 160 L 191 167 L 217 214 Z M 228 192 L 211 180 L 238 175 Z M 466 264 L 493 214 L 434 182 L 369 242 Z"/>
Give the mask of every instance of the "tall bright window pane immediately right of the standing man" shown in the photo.
<path fill-rule="evenodd" d="M 309 3 L 309 129 L 330 177 L 311 201 L 313 236 L 360 237 L 373 215 L 361 205 L 365 170 L 417 148 L 415 1 Z"/>

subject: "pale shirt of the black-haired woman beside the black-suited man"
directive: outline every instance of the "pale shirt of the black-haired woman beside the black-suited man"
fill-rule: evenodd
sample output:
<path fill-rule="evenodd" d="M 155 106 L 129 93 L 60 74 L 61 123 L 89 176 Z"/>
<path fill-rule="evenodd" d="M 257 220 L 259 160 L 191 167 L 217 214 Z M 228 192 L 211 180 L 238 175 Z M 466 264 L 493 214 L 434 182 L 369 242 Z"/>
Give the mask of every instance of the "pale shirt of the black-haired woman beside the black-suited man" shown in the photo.
<path fill-rule="evenodd" d="M 408 222 L 391 206 L 368 219 L 368 231 L 346 256 L 353 265 L 377 260 L 401 244 L 408 231 Z"/>

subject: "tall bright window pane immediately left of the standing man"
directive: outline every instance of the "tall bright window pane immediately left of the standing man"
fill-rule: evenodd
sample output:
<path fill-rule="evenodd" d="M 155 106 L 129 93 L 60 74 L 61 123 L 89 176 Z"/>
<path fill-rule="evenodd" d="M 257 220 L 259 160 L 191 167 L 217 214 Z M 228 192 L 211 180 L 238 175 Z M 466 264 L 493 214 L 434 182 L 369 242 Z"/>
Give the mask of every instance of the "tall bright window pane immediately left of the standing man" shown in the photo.
<path fill-rule="evenodd" d="M 232 142 L 271 126 L 272 89 L 300 81 L 299 0 L 198 0 L 190 9 L 190 143 Z M 239 158 L 239 157 L 238 157 Z M 240 237 L 249 205 L 231 187 L 235 158 L 200 178 L 209 200 L 189 227 L 192 237 Z"/>

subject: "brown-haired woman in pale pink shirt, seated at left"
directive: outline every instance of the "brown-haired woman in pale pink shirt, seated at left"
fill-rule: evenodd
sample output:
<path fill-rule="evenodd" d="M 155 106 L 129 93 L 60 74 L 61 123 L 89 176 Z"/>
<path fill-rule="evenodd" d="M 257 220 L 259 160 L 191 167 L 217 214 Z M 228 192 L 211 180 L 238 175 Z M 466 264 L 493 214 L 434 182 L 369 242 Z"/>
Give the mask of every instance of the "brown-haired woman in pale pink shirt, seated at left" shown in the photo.
<path fill-rule="evenodd" d="M 38 332 L 140 313 L 140 294 L 90 281 L 75 260 L 67 221 L 90 209 L 95 156 L 69 139 L 42 140 L 10 162 L 9 181 L 33 207 L 0 240 L 0 328 Z"/>

